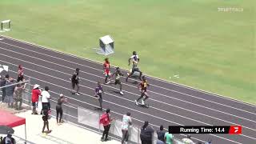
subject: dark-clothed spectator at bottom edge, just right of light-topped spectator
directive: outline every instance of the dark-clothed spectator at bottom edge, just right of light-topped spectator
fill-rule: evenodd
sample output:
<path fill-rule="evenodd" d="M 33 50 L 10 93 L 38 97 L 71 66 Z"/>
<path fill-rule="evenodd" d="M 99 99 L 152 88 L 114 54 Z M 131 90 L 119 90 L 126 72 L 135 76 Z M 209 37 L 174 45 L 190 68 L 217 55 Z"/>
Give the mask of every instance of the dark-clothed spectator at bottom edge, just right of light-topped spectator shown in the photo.
<path fill-rule="evenodd" d="M 152 144 L 152 138 L 154 134 L 154 129 L 149 126 L 149 122 L 144 122 L 144 125 L 141 128 L 141 140 L 142 144 Z"/>

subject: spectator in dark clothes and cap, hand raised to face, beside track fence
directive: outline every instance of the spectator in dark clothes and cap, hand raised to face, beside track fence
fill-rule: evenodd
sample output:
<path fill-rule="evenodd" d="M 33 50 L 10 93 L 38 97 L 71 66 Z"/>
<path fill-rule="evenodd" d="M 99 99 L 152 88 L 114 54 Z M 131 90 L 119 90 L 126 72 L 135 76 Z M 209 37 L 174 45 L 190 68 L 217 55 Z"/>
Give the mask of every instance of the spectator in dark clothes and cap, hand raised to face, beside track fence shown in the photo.
<path fill-rule="evenodd" d="M 64 97 L 63 94 L 59 95 L 58 98 L 58 102 L 56 105 L 56 119 L 57 119 L 57 124 L 60 125 L 62 122 L 62 114 L 63 114 L 63 110 L 62 110 L 62 102 L 67 102 L 67 99 Z M 58 115 L 59 115 L 59 119 L 58 119 Z"/>

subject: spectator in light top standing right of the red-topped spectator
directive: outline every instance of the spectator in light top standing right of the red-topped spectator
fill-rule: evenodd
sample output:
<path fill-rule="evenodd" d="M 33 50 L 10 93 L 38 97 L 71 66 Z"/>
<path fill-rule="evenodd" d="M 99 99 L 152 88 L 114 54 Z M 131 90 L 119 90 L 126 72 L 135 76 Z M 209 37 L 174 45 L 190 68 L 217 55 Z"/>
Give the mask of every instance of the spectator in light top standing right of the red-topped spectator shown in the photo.
<path fill-rule="evenodd" d="M 131 123 L 130 113 L 128 112 L 122 117 L 122 144 L 124 142 L 128 142 L 128 138 L 129 138 L 128 130 L 131 124 L 132 123 Z"/>

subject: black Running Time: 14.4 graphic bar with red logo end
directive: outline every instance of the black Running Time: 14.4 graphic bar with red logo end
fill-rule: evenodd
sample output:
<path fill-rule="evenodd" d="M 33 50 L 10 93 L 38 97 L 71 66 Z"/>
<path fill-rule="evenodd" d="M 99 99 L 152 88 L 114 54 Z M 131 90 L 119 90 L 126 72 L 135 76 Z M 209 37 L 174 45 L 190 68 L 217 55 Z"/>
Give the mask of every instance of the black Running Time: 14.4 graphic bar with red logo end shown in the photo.
<path fill-rule="evenodd" d="M 169 126 L 170 134 L 242 134 L 242 126 Z"/>

